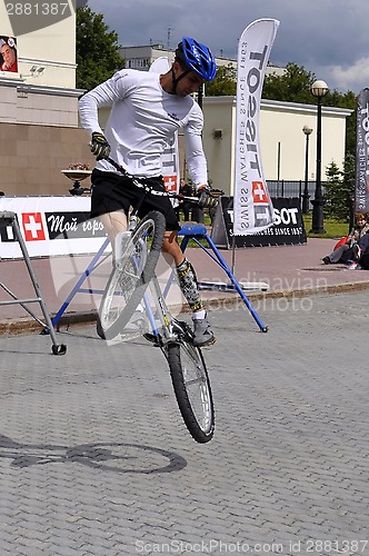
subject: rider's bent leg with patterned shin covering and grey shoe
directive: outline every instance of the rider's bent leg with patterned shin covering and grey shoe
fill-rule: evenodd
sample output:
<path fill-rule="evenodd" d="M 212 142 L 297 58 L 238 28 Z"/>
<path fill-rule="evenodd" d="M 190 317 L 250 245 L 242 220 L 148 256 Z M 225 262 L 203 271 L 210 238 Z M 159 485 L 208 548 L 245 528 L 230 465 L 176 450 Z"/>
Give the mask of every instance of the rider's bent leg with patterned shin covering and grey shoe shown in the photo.
<path fill-rule="evenodd" d="M 181 291 L 192 310 L 195 328 L 193 344 L 196 346 L 211 345 L 216 341 L 216 338 L 208 322 L 207 312 L 199 292 L 196 272 L 191 262 L 187 260 L 181 251 L 177 241 L 177 231 L 166 231 L 162 250 L 174 259 Z"/>

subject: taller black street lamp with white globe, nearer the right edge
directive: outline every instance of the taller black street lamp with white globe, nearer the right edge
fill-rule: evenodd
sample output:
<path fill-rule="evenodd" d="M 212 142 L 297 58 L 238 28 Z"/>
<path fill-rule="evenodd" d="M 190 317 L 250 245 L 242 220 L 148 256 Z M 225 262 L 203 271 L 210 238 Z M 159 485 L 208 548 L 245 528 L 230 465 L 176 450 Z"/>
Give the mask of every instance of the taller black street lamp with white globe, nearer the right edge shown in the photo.
<path fill-rule="evenodd" d="M 316 193 L 312 203 L 311 234 L 326 234 L 323 228 L 323 203 L 321 195 L 321 100 L 329 91 L 326 81 L 318 80 L 310 87 L 310 92 L 318 99 L 317 113 L 317 172 L 316 172 Z"/>

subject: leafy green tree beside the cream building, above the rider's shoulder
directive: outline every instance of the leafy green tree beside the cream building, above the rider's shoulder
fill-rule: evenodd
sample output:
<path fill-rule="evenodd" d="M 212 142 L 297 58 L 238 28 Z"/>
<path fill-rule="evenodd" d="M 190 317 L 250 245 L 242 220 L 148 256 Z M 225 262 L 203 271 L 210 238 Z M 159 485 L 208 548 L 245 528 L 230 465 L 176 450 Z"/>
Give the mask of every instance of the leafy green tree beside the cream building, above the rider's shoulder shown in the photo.
<path fill-rule="evenodd" d="M 90 8 L 77 10 L 76 87 L 93 89 L 109 79 L 123 64 L 119 53 L 118 34 L 109 31 L 102 13 Z"/>

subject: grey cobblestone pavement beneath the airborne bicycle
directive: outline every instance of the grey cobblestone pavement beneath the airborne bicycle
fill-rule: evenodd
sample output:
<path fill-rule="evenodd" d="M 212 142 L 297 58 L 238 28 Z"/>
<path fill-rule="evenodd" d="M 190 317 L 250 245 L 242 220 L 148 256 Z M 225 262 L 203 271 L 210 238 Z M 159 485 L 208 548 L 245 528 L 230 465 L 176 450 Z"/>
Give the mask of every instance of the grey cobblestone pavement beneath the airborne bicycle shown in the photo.
<path fill-rule="evenodd" d="M 207 445 L 143 339 L 1 336 L 1 555 L 368 555 L 367 292 L 260 302 L 211 312 Z"/>

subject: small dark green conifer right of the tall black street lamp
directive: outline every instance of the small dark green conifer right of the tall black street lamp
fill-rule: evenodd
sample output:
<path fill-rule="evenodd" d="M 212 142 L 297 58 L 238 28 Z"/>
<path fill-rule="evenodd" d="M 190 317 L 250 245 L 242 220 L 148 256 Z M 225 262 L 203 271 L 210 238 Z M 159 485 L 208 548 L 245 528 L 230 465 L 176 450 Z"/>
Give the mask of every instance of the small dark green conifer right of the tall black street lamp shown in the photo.
<path fill-rule="evenodd" d="M 355 157 L 346 155 L 343 170 L 336 162 L 331 162 L 326 170 L 325 183 L 325 215 L 338 221 L 350 221 L 352 207 L 351 199 L 355 195 Z"/>

